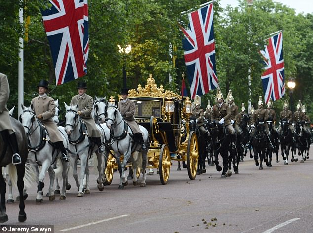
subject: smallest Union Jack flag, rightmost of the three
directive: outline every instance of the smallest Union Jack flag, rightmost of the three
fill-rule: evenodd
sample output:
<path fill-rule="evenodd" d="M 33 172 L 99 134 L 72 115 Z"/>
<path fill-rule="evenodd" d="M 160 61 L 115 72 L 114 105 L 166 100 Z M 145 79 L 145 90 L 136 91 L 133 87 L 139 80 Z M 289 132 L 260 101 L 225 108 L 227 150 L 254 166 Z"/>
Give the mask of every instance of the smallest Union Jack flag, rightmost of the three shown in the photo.
<path fill-rule="evenodd" d="M 268 45 L 260 53 L 263 56 L 265 72 L 262 74 L 264 101 L 276 101 L 285 94 L 285 68 L 282 53 L 282 32 L 267 39 Z"/>

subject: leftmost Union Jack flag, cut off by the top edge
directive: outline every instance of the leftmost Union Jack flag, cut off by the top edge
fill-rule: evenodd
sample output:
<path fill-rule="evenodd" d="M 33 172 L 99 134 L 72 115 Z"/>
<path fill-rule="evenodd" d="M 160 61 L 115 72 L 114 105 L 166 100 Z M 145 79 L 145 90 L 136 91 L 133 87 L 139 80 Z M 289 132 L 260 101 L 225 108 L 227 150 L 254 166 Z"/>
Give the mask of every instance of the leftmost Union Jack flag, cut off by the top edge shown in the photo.
<path fill-rule="evenodd" d="M 42 19 L 50 43 L 56 84 L 87 73 L 89 52 L 87 0 L 49 0 Z"/>

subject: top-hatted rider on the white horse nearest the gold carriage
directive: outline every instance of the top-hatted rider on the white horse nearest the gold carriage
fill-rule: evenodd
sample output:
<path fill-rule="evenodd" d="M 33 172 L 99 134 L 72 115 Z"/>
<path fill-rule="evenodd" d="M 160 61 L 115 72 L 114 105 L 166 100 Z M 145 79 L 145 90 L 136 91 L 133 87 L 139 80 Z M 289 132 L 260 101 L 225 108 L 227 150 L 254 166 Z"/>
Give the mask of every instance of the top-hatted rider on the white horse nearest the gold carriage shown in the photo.
<path fill-rule="evenodd" d="M 135 102 L 128 99 L 128 89 L 122 88 L 121 90 L 122 100 L 118 102 L 118 110 L 121 113 L 122 117 L 126 120 L 127 124 L 131 128 L 133 135 L 137 142 L 141 144 L 141 149 L 146 150 L 147 147 L 144 143 L 142 137 L 142 132 L 139 129 L 138 122 L 135 119 Z"/>

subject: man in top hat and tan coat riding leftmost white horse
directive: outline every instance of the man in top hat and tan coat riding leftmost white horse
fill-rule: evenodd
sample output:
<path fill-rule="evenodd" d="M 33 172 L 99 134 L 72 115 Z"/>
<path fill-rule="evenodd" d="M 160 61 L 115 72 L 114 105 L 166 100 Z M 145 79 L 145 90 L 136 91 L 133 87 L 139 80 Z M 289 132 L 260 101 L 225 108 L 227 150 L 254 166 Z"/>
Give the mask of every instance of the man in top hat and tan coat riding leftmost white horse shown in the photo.
<path fill-rule="evenodd" d="M 68 162 L 67 152 L 63 145 L 63 137 L 57 128 L 56 123 L 53 121 L 55 114 L 55 103 L 52 97 L 46 94 L 49 82 L 40 80 L 38 87 L 39 96 L 32 99 L 31 106 L 36 117 L 40 120 L 42 125 L 48 132 L 50 141 L 54 143 L 55 147 L 61 151 L 62 160 Z"/>

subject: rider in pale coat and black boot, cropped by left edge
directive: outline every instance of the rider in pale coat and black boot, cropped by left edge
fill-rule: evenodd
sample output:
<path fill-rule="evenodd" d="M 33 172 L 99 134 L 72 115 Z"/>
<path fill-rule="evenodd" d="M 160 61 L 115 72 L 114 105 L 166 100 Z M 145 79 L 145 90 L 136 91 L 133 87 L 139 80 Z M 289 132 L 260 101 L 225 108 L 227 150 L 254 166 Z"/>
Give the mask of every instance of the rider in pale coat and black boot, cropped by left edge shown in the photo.
<path fill-rule="evenodd" d="M 8 142 L 12 152 L 12 164 L 17 165 L 22 162 L 15 132 L 12 128 L 10 114 L 6 107 L 10 96 L 9 82 L 5 74 L 0 73 L 0 132 L 4 142 Z M 5 154 L 5 153 L 4 153 Z M 1 162 L 2 159 L 0 159 Z"/>

